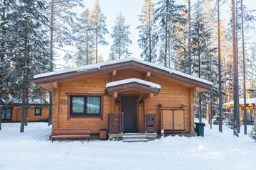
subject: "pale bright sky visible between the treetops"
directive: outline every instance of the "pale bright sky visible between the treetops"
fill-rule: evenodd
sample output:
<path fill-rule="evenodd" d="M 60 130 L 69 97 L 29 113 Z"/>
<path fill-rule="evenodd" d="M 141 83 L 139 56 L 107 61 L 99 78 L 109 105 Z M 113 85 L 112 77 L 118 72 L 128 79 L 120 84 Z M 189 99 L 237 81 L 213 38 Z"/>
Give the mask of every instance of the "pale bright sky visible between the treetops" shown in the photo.
<path fill-rule="evenodd" d="M 159 0 L 153 0 L 154 3 L 158 2 Z M 228 1 L 230 3 L 231 0 Z M 84 0 L 85 8 L 93 8 L 96 0 Z M 114 26 L 114 19 L 116 14 L 121 11 L 124 17 L 126 18 L 126 24 L 130 25 L 130 32 L 132 34 L 129 35 L 129 38 L 132 40 L 132 45 L 129 45 L 128 49 L 129 52 L 132 52 L 132 57 L 140 57 L 142 49 L 139 48 L 137 40 L 139 39 L 139 30 L 137 27 L 139 26 L 139 14 L 141 13 L 142 5 L 144 4 L 144 0 L 99 0 L 100 7 L 102 12 L 107 17 L 107 30 L 112 33 L 112 27 Z M 179 4 L 186 4 L 186 0 L 176 0 Z M 191 0 L 191 6 L 196 3 L 196 0 Z M 256 1 L 255 0 L 243 0 L 243 4 L 250 9 L 256 9 Z M 75 13 L 81 13 L 85 11 L 85 8 L 75 8 Z M 223 11 L 222 15 L 228 18 L 229 11 L 229 4 L 225 6 L 220 6 L 220 10 Z M 110 34 L 105 35 L 105 40 L 109 42 L 107 46 L 99 46 L 99 54 L 107 60 L 107 57 L 110 54 L 110 47 L 112 45 L 112 38 L 110 38 Z M 69 47 L 69 50 L 75 50 L 74 47 Z M 64 54 L 60 54 L 60 58 L 63 57 Z M 57 62 L 60 62 L 58 60 Z"/>

